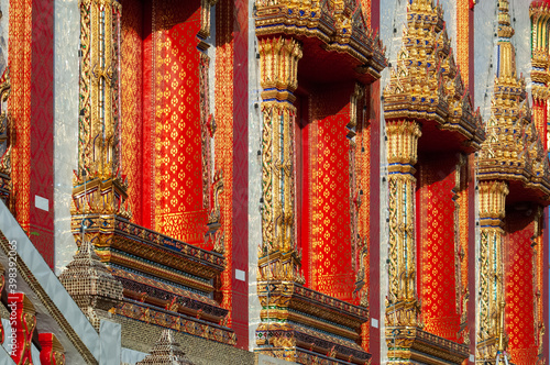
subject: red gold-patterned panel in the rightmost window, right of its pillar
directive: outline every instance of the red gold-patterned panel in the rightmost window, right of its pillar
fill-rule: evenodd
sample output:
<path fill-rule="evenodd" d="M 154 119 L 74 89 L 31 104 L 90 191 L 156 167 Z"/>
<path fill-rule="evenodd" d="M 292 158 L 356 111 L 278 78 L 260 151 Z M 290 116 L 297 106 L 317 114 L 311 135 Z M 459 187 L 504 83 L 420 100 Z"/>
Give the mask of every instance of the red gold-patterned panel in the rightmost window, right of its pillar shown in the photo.
<path fill-rule="evenodd" d="M 535 270 L 531 237 L 532 215 L 525 211 L 506 211 L 506 331 L 508 352 L 517 365 L 537 363 L 535 321 Z"/>

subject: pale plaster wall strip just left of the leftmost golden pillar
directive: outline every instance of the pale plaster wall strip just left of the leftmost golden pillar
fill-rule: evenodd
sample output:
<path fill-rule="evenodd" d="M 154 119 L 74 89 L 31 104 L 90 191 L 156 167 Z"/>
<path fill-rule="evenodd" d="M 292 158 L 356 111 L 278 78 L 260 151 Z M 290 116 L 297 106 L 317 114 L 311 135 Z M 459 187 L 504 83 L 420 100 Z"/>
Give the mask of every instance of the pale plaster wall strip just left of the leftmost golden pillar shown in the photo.
<path fill-rule="evenodd" d="M 54 234 L 55 272 L 73 259 L 77 247 L 70 233 L 73 170 L 77 166 L 78 0 L 54 0 Z"/>

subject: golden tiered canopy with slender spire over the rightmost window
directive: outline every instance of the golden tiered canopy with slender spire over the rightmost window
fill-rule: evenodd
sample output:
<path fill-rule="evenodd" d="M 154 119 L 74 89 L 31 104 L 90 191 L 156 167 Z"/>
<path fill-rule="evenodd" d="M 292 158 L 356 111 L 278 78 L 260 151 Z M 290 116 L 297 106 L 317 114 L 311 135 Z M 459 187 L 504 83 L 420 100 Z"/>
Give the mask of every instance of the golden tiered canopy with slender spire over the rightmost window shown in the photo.
<path fill-rule="evenodd" d="M 479 178 L 520 182 L 521 188 L 532 189 L 539 202 L 548 204 L 550 165 L 531 118 L 525 79 L 516 74 L 513 35 L 508 1 L 499 0 L 497 69 L 487 140 L 480 152 Z"/>

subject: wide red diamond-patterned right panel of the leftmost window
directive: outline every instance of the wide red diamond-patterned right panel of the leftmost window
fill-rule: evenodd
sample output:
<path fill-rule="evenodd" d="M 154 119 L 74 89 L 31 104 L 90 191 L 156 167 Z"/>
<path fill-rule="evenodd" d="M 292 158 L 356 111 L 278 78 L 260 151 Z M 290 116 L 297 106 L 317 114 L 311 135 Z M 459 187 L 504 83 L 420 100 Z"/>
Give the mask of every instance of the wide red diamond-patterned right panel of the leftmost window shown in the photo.
<path fill-rule="evenodd" d="M 207 223 L 197 90 L 200 3 L 164 0 L 153 7 L 155 228 L 177 240 L 200 245 Z"/>

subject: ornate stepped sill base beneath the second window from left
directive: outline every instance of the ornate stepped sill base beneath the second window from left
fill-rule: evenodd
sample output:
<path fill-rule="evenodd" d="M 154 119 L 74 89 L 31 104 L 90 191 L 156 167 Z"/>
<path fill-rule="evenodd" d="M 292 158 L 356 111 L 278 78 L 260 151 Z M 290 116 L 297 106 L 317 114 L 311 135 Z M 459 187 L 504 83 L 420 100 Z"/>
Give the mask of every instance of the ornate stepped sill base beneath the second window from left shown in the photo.
<path fill-rule="evenodd" d="M 258 281 L 262 323 L 256 330 L 257 352 L 307 350 L 336 357 L 341 364 L 365 364 L 371 355 L 361 349 L 361 327 L 369 310 L 293 281 Z M 278 356 L 278 355 L 276 355 Z M 292 361 L 296 361 L 293 355 Z"/>

